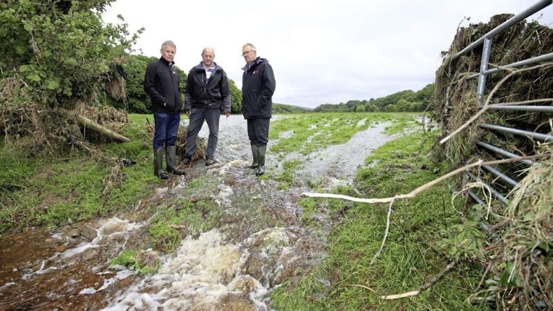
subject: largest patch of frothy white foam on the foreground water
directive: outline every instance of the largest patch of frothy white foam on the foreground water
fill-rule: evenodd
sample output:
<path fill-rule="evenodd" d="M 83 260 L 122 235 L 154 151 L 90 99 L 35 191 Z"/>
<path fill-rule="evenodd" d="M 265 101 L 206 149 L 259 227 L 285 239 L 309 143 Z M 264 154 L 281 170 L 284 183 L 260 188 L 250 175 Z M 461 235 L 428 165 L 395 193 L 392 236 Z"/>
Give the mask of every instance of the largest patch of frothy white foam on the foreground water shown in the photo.
<path fill-rule="evenodd" d="M 247 256 L 236 245 L 224 243 L 218 229 L 186 238 L 176 256 L 163 259 L 158 274 L 147 276 L 104 310 L 216 310 L 228 294 L 246 294 L 266 310 L 261 299 L 267 290 L 251 276 L 239 274 Z"/>

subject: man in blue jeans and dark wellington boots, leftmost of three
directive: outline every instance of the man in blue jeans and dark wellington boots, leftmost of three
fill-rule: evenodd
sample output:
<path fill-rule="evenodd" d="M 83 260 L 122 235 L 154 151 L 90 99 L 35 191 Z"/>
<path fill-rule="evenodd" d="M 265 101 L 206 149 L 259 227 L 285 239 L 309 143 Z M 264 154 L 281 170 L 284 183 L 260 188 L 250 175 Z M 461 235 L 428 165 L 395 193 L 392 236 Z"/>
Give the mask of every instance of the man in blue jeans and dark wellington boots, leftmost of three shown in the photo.
<path fill-rule="evenodd" d="M 165 41 L 161 45 L 161 57 L 146 68 L 144 76 L 144 91 L 151 98 L 155 133 L 153 134 L 153 173 L 161 179 L 169 178 L 163 170 L 163 151 L 165 147 L 165 161 L 167 171 L 177 175 L 184 175 L 176 167 L 175 140 L 180 122 L 180 77 L 173 68 L 173 59 L 176 46 L 173 41 Z"/>

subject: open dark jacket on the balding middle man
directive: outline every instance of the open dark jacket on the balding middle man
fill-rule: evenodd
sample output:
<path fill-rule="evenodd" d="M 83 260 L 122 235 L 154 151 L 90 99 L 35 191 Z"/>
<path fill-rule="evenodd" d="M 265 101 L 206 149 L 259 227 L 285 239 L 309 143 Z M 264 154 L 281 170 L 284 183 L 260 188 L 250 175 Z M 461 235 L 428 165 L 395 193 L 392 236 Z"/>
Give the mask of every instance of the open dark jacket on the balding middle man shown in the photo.
<path fill-rule="evenodd" d="M 218 64 L 205 83 L 203 63 L 190 69 L 186 82 L 185 111 L 192 108 L 216 108 L 230 113 L 229 79 Z"/>

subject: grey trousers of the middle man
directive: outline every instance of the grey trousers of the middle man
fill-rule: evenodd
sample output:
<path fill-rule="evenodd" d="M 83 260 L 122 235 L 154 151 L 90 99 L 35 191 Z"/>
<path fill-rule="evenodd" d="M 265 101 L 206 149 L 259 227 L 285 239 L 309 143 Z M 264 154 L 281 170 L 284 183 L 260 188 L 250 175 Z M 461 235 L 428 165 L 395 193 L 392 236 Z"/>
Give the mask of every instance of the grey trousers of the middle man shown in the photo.
<path fill-rule="evenodd" d="M 196 137 L 200 129 L 202 129 L 205 120 L 207 126 L 209 126 L 209 138 L 207 139 L 205 158 L 213 159 L 217 147 L 221 111 L 218 108 L 193 108 L 190 112 L 190 123 L 188 124 L 188 133 L 186 135 L 185 156 L 191 158 L 194 151 L 196 151 Z"/>

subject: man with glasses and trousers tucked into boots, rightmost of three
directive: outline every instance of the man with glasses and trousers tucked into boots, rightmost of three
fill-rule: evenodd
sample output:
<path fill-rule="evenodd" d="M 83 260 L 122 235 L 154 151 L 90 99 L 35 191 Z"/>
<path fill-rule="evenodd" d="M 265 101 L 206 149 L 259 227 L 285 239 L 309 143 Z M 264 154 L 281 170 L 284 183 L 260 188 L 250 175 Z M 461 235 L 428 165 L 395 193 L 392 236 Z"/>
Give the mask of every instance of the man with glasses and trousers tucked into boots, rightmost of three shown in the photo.
<path fill-rule="evenodd" d="M 242 113 L 247 120 L 247 137 L 250 138 L 254 162 L 250 169 L 256 175 L 265 173 L 265 152 L 269 141 L 269 122 L 272 116 L 272 95 L 276 86 L 274 73 L 267 59 L 257 56 L 253 44 L 242 47 L 246 66 L 242 68 Z"/>

